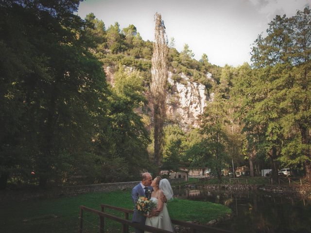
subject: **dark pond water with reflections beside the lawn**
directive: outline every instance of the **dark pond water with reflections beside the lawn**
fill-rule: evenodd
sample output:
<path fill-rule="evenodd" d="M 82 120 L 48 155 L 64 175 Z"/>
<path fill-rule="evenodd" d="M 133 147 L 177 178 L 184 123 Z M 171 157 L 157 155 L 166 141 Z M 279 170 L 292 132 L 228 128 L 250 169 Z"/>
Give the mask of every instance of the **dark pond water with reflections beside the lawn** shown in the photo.
<path fill-rule="evenodd" d="M 228 206 L 233 217 L 215 226 L 221 229 L 236 233 L 311 233 L 311 202 L 299 197 L 195 187 L 175 189 L 174 196 Z"/>

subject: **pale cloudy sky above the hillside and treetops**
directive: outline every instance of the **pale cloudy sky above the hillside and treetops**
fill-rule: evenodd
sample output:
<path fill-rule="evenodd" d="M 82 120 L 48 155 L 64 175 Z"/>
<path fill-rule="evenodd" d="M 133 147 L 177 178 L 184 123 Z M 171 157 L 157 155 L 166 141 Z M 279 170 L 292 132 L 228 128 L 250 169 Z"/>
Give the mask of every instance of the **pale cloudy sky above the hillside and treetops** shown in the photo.
<path fill-rule="evenodd" d="M 78 15 L 94 13 L 106 29 L 134 24 L 143 40 L 154 41 L 155 13 L 164 20 L 170 43 L 180 52 L 188 44 L 199 60 L 207 54 L 211 64 L 250 64 L 252 44 L 276 15 L 292 17 L 311 0 L 84 0 Z"/>

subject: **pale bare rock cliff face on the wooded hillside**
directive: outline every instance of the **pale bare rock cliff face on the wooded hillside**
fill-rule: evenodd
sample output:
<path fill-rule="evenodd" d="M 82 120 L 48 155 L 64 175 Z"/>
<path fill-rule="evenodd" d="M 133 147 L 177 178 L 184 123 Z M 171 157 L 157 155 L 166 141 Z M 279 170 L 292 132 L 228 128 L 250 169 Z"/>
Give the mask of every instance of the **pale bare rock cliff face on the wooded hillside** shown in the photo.
<path fill-rule="evenodd" d="M 114 73 L 110 67 L 105 68 L 107 82 L 114 83 Z M 207 97 L 207 91 L 203 84 L 190 82 L 189 78 L 181 74 L 182 80 L 175 82 L 172 73 L 168 74 L 170 91 L 167 94 L 167 118 L 169 121 L 178 123 L 184 130 L 197 128 L 199 116 L 203 114 L 208 101 L 212 101 L 213 93 Z M 207 73 L 207 79 L 212 79 Z"/>

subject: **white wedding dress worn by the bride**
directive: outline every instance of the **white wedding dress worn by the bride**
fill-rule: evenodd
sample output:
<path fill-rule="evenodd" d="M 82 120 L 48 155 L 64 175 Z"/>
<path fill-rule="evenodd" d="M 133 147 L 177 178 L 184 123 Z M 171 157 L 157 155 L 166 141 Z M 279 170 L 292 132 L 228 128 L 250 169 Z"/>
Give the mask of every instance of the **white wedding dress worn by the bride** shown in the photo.
<path fill-rule="evenodd" d="M 157 204 L 156 198 L 151 198 L 151 200 Z M 173 232 L 173 226 L 166 203 L 163 203 L 163 209 L 158 216 L 147 217 L 146 225 Z M 145 231 L 145 233 L 148 232 Z"/>

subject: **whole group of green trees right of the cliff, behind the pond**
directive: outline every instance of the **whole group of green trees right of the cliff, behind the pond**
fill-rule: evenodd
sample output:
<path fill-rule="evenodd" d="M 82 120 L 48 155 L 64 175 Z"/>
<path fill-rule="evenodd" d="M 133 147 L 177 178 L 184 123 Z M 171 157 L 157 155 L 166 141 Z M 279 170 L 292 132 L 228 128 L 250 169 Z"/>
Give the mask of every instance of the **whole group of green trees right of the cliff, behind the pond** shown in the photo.
<path fill-rule="evenodd" d="M 202 140 L 190 150 L 192 165 L 209 166 L 220 180 L 230 160 L 243 165 L 245 156 L 251 176 L 270 167 L 276 179 L 285 166 L 311 180 L 310 32 L 309 8 L 276 16 L 254 42 L 253 67 L 223 67 L 202 116 Z"/>

